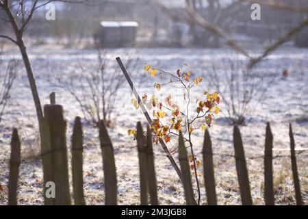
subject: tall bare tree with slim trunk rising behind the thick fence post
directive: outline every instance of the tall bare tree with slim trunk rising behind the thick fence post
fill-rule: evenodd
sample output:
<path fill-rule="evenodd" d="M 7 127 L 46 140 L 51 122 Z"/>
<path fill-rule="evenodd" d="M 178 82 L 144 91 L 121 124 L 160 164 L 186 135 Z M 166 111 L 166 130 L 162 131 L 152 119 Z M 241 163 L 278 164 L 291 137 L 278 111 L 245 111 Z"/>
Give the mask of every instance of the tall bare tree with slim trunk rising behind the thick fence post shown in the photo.
<path fill-rule="evenodd" d="M 25 42 L 23 40 L 23 36 L 27 27 L 31 23 L 31 19 L 34 16 L 34 13 L 43 6 L 48 3 L 62 1 L 68 3 L 84 3 L 85 5 L 90 5 L 90 1 L 88 0 L 48 0 L 48 1 L 27 1 L 27 0 L 19 0 L 19 1 L 10 1 L 10 0 L 0 0 L 0 12 L 4 14 L 4 16 L 0 16 L 0 21 L 7 23 L 12 27 L 14 31 L 14 36 L 9 35 L 0 35 L 0 38 L 4 38 L 6 40 L 10 40 L 21 52 L 23 57 L 23 63 L 25 65 L 25 69 L 27 71 L 27 77 L 29 79 L 29 84 L 31 88 L 31 93 L 34 99 L 34 105 L 36 107 L 36 115 L 38 117 L 38 123 L 43 117 L 42 106 L 40 104 L 40 96 L 38 95 L 38 89 L 36 88 L 36 80 L 34 77 L 34 73 L 31 67 L 31 62 L 29 60 L 29 55 L 27 53 L 27 49 L 25 47 Z"/>

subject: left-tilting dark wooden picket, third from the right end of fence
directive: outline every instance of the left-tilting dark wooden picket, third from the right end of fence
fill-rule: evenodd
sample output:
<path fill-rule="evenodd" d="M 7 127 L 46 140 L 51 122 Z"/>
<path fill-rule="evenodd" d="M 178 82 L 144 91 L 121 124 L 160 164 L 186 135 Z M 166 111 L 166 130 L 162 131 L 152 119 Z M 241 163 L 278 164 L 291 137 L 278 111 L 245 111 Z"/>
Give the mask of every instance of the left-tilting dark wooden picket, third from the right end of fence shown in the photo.
<path fill-rule="evenodd" d="M 242 137 L 240 134 L 240 129 L 238 129 L 238 126 L 236 125 L 233 129 L 233 142 L 236 171 L 238 172 L 238 183 L 240 185 L 242 205 L 253 205 L 253 201 L 251 200 L 251 188 L 249 186 L 248 171 L 246 167 Z"/>

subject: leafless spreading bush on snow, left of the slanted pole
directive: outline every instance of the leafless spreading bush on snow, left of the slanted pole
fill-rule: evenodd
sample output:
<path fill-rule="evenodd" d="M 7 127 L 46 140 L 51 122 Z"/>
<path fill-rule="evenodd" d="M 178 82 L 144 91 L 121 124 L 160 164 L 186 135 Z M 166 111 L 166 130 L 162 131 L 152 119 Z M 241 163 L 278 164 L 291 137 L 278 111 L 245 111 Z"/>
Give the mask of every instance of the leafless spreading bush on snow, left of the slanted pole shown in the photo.
<path fill-rule="evenodd" d="M 69 92 L 79 104 L 84 118 L 94 127 L 102 119 L 108 127 L 114 125 L 112 121 L 116 118 L 113 114 L 116 97 L 125 82 L 125 77 L 113 65 L 114 61 L 108 59 L 105 53 L 102 54 L 99 49 L 96 62 L 79 62 L 74 72 L 68 75 L 59 72 L 49 74 L 52 75 L 49 82 Z M 123 57 L 126 57 L 125 66 L 133 72 L 138 58 L 133 57 L 133 54 L 125 54 Z"/>

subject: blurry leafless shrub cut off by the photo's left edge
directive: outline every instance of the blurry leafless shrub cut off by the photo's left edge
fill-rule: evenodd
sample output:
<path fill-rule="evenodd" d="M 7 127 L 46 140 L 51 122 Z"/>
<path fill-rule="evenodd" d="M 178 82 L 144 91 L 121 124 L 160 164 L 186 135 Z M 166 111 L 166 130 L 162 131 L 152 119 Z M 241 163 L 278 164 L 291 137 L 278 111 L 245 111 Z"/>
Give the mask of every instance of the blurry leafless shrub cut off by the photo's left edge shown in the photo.
<path fill-rule="evenodd" d="M 1 55 L 3 55 L 2 48 L 0 48 L 0 57 Z M 9 60 L 8 66 L 5 67 L 3 66 L 3 60 L 0 59 L 0 123 L 5 107 L 10 99 L 10 91 L 16 79 L 19 66 L 20 62 L 12 59 Z"/>

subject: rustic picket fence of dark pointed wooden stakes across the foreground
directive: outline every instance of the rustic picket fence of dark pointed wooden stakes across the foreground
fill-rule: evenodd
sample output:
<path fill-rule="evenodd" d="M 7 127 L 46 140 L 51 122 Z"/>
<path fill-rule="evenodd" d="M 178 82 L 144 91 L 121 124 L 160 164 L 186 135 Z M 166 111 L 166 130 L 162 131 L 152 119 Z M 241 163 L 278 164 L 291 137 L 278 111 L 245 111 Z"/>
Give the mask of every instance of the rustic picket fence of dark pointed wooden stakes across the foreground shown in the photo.
<path fill-rule="evenodd" d="M 45 205 L 71 205 L 69 179 L 68 179 L 68 159 L 66 146 L 66 122 L 63 117 L 61 105 L 45 105 L 44 118 L 40 123 L 41 138 L 41 158 L 44 172 L 44 182 L 55 183 L 55 198 L 46 197 L 44 191 Z M 103 121 L 99 123 L 99 140 L 103 156 L 103 172 L 105 185 L 105 205 L 117 204 L 117 181 L 116 164 L 114 161 L 114 149 L 112 141 L 108 136 L 107 129 Z M 294 188 L 296 194 L 296 204 L 302 205 L 300 194 L 300 183 L 296 166 L 296 155 L 294 151 L 294 138 L 290 125 L 290 149 Z M 73 199 L 75 205 L 86 205 L 83 190 L 83 131 L 79 117 L 75 119 L 73 136 L 71 138 L 72 153 L 72 180 Z M 240 186 L 240 197 L 242 205 L 252 205 L 251 190 L 248 180 L 246 158 L 240 129 L 237 126 L 233 130 L 233 145 L 235 150 L 235 163 Z M 137 146 L 140 167 L 140 204 L 159 205 L 157 198 L 157 181 L 154 168 L 154 156 L 152 137 L 147 127 L 146 136 L 142 125 L 137 125 Z M 10 158 L 10 177 L 8 185 L 9 205 L 17 204 L 17 183 L 18 169 L 21 163 L 21 142 L 18 138 L 17 130 L 12 133 Z M 187 205 L 196 205 L 192 188 L 191 174 L 188 163 L 188 154 L 184 144 L 183 136 L 179 134 L 179 164 L 185 201 Z M 217 205 L 216 186 L 214 178 L 213 153 L 209 131 L 205 131 L 203 143 L 203 171 L 205 181 L 205 191 L 208 205 Z M 272 171 L 272 132 L 270 124 L 266 127 L 265 155 L 264 155 L 264 198 L 266 205 L 274 205 L 273 171 Z M 149 197 L 148 197 L 149 196 Z"/>

